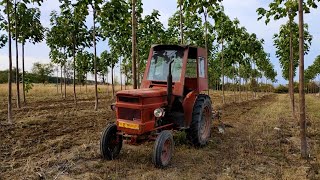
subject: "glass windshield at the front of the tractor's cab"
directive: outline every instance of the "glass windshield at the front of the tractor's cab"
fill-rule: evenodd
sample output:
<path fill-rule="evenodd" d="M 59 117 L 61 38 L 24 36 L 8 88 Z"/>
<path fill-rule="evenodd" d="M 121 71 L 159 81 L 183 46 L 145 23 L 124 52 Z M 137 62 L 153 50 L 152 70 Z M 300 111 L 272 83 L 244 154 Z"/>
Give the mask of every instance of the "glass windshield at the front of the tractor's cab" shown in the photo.
<path fill-rule="evenodd" d="M 167 81 L 169 73 L 169 63 L 171 66 L 172 81 L 180 81 L 182 69 L 183 50 L 159 50 L 153 51 L 148 80 Z"/>

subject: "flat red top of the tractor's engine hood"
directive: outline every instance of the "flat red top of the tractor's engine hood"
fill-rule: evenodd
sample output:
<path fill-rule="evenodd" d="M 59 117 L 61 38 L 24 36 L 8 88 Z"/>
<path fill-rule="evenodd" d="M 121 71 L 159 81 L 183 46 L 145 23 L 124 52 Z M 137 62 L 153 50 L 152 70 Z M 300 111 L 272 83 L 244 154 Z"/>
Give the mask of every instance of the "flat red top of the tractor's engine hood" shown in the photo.
<path fill-rule="evenodd" d="M 135 97 L 159 97 L 166 96 L 166 88 L 144 88 L 144 89 L 130 89 L 118 91 L 117 96 L 135 96 Z"/>

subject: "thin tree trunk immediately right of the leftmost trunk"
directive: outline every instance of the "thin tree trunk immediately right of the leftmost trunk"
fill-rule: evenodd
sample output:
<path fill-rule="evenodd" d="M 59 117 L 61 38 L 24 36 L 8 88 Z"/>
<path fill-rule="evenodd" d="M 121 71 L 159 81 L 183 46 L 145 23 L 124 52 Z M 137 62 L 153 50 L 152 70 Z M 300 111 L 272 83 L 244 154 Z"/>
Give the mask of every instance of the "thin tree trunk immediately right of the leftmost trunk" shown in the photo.
<path fill-rule="evenodd" d="M 18 48 L 18 27 L 17 27 L 17 21 L 18 21 L 18 16 L 17 16 L 17 1 L 15 0 L 14 3 L 14 26 L 15 26 L 15 40 L 16 40 L 16 85 L 17 85 L 17 107 L 21 108 L 20 104 L 20 76 L 19 76 L 19 48 Z"/>

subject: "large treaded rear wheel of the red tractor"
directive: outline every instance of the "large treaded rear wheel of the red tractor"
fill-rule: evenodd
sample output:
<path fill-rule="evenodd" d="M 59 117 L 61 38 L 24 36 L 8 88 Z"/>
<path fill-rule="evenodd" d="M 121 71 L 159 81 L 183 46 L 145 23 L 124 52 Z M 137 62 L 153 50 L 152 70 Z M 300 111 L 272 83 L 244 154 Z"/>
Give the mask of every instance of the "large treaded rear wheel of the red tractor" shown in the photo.
<path fill-rule="evenodd" d="M 208 95 L 199 94 L 193 106 L 192 121 L 187 137 L 197 147 L 208 143 L 211 135 L 212 107 Z"/>

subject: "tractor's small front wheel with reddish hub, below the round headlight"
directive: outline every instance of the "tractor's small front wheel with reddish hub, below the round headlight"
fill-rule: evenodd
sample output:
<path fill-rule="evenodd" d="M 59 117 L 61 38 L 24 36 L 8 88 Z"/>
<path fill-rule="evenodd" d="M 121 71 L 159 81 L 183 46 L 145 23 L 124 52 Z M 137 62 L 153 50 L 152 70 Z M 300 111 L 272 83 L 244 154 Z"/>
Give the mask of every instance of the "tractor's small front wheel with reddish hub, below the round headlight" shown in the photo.
<path fill-rule="evenodd" d="M 172 158 L 173 154 L 173 136 L 171 131 L 162 131 L 154 144 L 152 162 L 156 167 L 166 167 Z"/>

